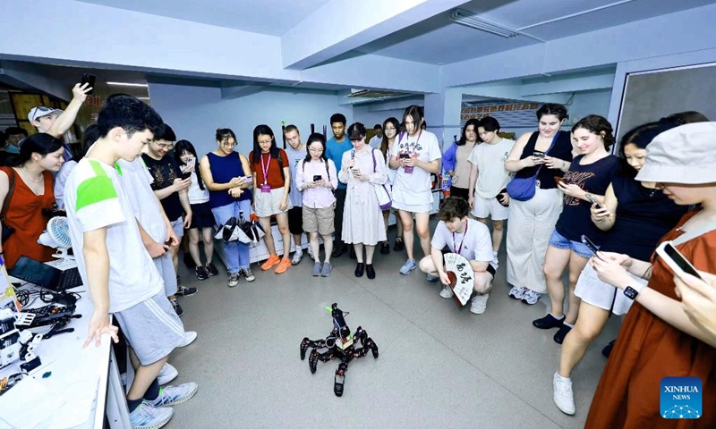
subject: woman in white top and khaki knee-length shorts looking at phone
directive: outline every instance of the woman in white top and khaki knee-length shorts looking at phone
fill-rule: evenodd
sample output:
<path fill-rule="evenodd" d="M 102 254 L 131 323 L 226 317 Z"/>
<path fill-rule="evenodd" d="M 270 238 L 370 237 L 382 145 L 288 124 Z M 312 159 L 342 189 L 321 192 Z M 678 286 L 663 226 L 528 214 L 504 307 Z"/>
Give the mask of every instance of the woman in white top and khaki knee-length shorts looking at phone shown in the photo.
<path fill-rule="evenodd" d="M 303 231 L 306 231 L 315 258 L 311 275 L 328 277 L 333 269 L 330 254 L 333 251 L 331 234 L 336 230 L 334 224 L 336 196 L 333 191 L 338 187 L 338 174 L 333 160 L 326 158 L 326 138 L 314 132 L 306 143 L 308 155 L 296 167 L 296 188 L 302 191 Z M 321 264 L 319 253 L 319 234 L 323 238 L 326 259 Z"/>

